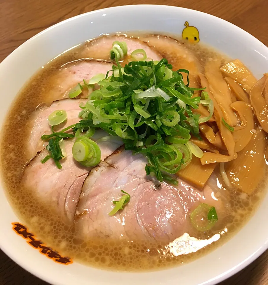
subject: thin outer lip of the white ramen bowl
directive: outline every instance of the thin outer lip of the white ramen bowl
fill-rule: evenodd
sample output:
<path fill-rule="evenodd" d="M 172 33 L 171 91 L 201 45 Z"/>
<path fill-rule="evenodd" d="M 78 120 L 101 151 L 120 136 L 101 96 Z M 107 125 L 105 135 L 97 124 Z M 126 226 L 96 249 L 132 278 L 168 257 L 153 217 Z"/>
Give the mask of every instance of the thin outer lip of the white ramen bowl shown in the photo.
<path fill-rule="evenodd" d="M 1 66 L 3 66 L 4 64 L 8 64 L 8 61 L 14 56 L 14 54 L 18 53 L 19 50 L 21 48 L 25 48 L 28 45 L 31 44 L 32 41 L 34 41 L 37 37 L 49 32 L 52 29 L 55 29 L 58 26 L 61 25 L 65 25 L 68 22 L 74 21 L 78 18 L 81 17 L 85 17 L 87 15 L 92 15 L 95 13 L 101 13 L 101 12 L 105 12 L 107 10 L 111 11 L 111 10 L 117 10 L 117 9 L 129 9 L 130 7 L 151 7 L 153 8 L 159 8 L 159 7 L 170 7 L 170 8 L 175 8 L 175 9 L 179 9 L 179 10 L 187 10 L 187 11 L 193 11 L 193 12 L 198 12 L 200 14 L 205 15 L 206 17 L 210 17 L 210 18 L 214 18 L 217 20 L 220 20 L 221 22 L 224 22 L 225 25 L 228 25 L 229 27 L 233 27 L 234 29 L 236 29 L 237 31 L 240 31 L 241 33 L 243 33 L 244 35 L 247 35 L 247 37 L 251 40 L 253 40 L 255 43 L 259 43 L 261 45 L 264 45 L 259 39 L 257 39 L 256 37 L 254 37 L 253 35 L 251 35 L 250 33 L 248 33 L 247 31 L 243 30 L 242 28 L 222 19 L 219 18 L 217 16 L 205 13 L 205 12 L 201 12 L 198 10 L 194 10 L 194 9 L 189 9 L 189 8 L 184 8 L 184 7 L 178 7 L 178 6 L 171 6 L 171 5 L 156 5 L 156 4 L 135 4 L 135 5 L 122 5 L 122 6 L 115 6 L 115 7 L 107 7 L 107 8 L 103 8 L 103 9 L 98 9 L 98 10 L 94 10 L 94 11 L 90 11 L 90 12 L 86 12 L 80 15 L 76 15 L 74 17 L 68 18 L 66 20 L 60 21 L 59 23 L 56 23 L 50 27 L 48 27 L 47 29 L 44 29 L 43 31 L 39 32 L 38 34 L 34 35 L 33 37 L 31 37 L 30 39 L 28 39 L 27 41 L 23 42 L 19 47 L 17 47 L 15 50 L 13 50 L 6 58 L 4 58 L 4 60 L 0 63 L 0 68 Z M 264 45 L 265 46 L 265 45 Z M 265 46 L 266 47 L 266 46 Z M 266 47 L 268 49 L 268 47 Z M 8 199 L 7 199 L 8 201 Z M 9 201 L 8 201 L 9 203 Z M 9 203 L 10 204 L 10 203 Z M 12 207 L 11 207 L 12 208 Z M 253 214 L 254 215 L 254 214 Z M 228 241 L 226 241 L 226 243 L 228 243 Z M 23 269 L 25 269 L 26 271 L 28 271 L 29 273 L 31 273 L 32 275 L 36 276 L 37 278 L 42 279 L 45 282 L 51 283 L 51 284 L 55 284 L 55 285 L 62 285 L 62 282 L 58 281 L 58 280 L 54 280 L 53 277 L 51 276 L 47 276 L 45 275 L 42 271 L 36 271 L 36 269 L 31 268 L 30 266 L 28 266 L 27 262 L 23 261 L 21 258 L 18 257 L 18 255 L 13 254 L 12 250 L 9 250 L 8 247 L 4 247 L 3 243 L 1 242 L 0 239 L 0 249 L 9 257 L 11 258 L 14 262 L 16 262 L 20 267 L 22 267 Z M 243 270 L 246 266 L 248 266 L 249 264 L 251 264 L 254 260 L 256 260 L 261 254 L 264 253 L 264 251 L 266 251 L 268 249 L 268 242 L 264 243 L 263 245 L 261 245 L 259 247 L 259 249 L 255 252 L 253 252 L 248 258 L 245 258 L 242 262 L 240 262 L 237 266 L 232 267 L 229 270 L 226 270 L 225 272 L 222 272 L 221 274 L 219 274 L 218 276 L 209 279 L 205 282 L 200 283 L 199 285 L 216 285 L 221 281 L 224 281 L 226 279 L 228 279 L 229 277 L 233 276 L 234 274 L 238 273 L 239 271 Z M 164 271 L 164 270 L 162 270 Z M 144 273 L 151 273 L 151 271 L 149 272 L 144 272 Z"/>

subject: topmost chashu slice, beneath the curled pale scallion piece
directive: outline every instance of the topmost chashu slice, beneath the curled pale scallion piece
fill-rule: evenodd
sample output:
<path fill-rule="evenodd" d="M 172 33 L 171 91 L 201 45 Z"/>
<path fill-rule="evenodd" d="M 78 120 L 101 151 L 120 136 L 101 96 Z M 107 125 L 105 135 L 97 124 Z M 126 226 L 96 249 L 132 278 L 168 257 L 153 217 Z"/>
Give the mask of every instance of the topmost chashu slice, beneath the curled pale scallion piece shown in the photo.
<path fill-rule="evenodd" d="M 102 60 L 110 60 L 110 50 L 112 49 L 112 45 L 114 41 L 126 42 L 127 44 L 127 56 L 137 49 L 143 49 L 146 52 L 147 57 L 153 60 L 160 60 L 162 56 L 159 55 L 157 51 L 149 47 L 145 42 L 140 41 L 135 38 L 127 38 L 124 36 L 113 36 L 107 37 L 103 36 L 94 41 L 90 41 L 87 43 L 83 56 L 85 58 L 95 58 Z"/>

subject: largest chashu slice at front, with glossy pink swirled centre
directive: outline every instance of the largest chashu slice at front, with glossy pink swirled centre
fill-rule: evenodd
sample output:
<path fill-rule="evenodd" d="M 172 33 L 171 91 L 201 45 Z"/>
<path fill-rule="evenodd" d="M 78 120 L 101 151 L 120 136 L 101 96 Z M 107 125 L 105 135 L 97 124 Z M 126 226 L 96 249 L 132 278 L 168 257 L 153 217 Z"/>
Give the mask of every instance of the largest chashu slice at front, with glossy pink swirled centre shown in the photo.
<path fill-rule="evenodd" d="M 131 151 L 117 149 L 87 176 L 76 210 L 76 227 L 84 239 L 100 236 L 127 240 L 157 239 L 170 242 L 193 230 L 189 212 L 200 203 L 224 211 L 220 200 L 213 200 L 212 190 L 199 191 L 178 180 L 172 186 L 165 182 L 155 185 L 146 176 L 147 161 Z M 114 216 L 109 212 L 113 201 L 122 197 L 121 189 L 130 194 L 130 202 Z M 219 215 L 220 216 L 220 215 Z"/>

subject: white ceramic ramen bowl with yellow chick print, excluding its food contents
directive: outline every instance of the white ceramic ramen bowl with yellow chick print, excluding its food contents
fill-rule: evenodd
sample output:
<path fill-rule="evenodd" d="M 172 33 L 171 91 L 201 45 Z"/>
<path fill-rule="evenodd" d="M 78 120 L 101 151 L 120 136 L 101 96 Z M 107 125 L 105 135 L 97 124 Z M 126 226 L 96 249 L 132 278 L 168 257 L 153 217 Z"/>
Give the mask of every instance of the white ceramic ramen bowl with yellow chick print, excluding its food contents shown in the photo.
<path fill-rule="evenodd" d="M 17 92 L 41 66 L 63 51 L 101 34 L 150 31 L 180 35 L 184 23 L 198 28 L 200 42 L 231 58 L 239 58 L 257 78 L 268 72 L 268 48 L 259 40 L 222 19 L 194 10 L 170 6 L 137 5 L 89 12 L 65 20 L 18 47 L 0 64 L 0 122 Z M 148 273 L 116 273 L 74 262 L 53 262 L 29 246 L 12 230 L 14 214 L 0 186 L 0 247 L 20 266 L 55 285 L 89 284 L 216 284 L 243 269 L 267 249 L 268 196 L 251 220 L 231 240 L 194 262 Z"/>

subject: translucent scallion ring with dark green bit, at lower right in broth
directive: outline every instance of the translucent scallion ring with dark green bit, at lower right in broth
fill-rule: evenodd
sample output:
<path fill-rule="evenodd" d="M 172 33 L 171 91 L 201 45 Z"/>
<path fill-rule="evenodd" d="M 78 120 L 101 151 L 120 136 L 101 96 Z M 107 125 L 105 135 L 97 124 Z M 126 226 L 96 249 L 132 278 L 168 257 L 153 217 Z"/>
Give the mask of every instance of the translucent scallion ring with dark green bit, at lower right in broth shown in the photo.
<path fill-rule="evenodd" d="M 194 228 L 198 231 L 206 232 L 210 230 L 218 221 L 215 208 L 202 203 L 190 213 L 190 220 Z"/>

